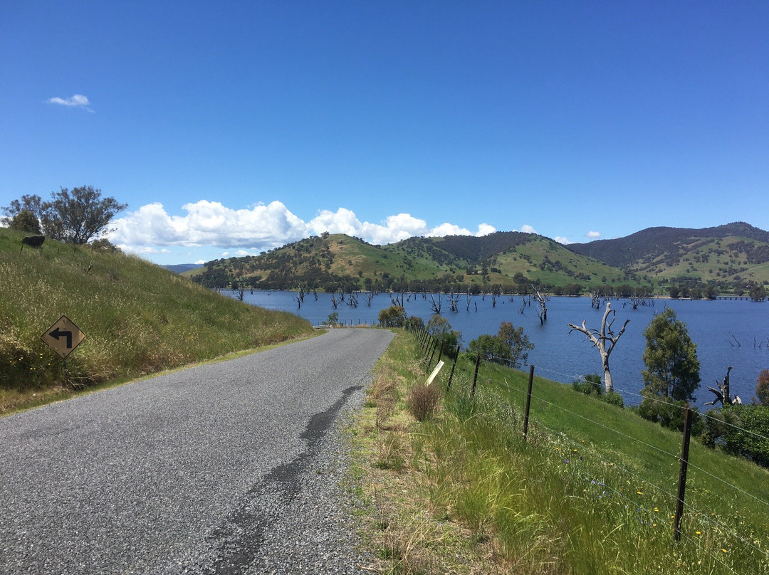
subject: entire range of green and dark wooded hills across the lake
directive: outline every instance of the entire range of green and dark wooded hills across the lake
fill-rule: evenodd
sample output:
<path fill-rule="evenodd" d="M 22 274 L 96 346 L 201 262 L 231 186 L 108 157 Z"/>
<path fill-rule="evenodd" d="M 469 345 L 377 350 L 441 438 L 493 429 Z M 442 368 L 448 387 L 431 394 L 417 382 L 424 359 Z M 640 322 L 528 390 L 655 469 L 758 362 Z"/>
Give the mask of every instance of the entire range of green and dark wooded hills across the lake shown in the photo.
<path fill-rule="evenodd" d="M 577 294 L 598 286 L 660 291 L 675 284 L 734 293 L 769 281 L 769 232 L 736 222 L 647 228 L 587 244 L 499 231 L 384 246 L 325 233 L 258 256 L 209 261 L 185 275 L 211 287 L 265 289 L 521 291 L 534 285 Z"/>

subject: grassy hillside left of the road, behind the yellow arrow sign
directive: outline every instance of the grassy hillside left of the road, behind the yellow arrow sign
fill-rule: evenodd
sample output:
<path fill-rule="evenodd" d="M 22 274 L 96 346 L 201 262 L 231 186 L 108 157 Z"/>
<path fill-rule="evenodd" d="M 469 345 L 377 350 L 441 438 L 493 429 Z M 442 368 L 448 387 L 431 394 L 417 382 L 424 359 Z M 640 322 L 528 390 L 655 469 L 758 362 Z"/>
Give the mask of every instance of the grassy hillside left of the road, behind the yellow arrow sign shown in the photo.
<path fill-rule="evenodd" d="M 312 331 L 134 256 L 56 241 L 19 254 L 24 235 L 0 228 L 0 414 Z M 40 340 L 62 314 L 85 333 L 66 374 Z"/>

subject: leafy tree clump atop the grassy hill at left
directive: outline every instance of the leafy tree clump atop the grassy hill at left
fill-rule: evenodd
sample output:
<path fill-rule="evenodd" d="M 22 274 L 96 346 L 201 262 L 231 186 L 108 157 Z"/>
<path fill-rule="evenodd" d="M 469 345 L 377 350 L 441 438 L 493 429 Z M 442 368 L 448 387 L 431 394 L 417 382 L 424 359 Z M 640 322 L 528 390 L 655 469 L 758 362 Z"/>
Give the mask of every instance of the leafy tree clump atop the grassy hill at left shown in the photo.
<path fill-rule="evenodd" d="M 128 204 L 121 204 L 115 198 L 102 198 L 102 191 L 93 186 L 61 188 L 51 194 L 51 201 L 42 201 L 38 195 L 24 195 L 2 208 L 10 224 L 25 211 L 38 220 L 42 233 L 47 238 L 69 244 L 86 244 L 93 238 L 105 234 L 109 222 Z M 28 216 L 24 216 L 28 218 Z"/>

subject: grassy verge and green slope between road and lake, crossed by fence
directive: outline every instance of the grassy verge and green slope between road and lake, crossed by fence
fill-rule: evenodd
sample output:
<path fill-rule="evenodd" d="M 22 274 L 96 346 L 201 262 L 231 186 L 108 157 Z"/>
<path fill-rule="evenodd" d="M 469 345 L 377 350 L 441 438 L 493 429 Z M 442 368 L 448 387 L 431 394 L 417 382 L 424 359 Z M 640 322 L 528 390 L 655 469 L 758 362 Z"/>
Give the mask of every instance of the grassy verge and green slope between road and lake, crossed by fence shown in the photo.
<path fill-rule="evenodd" d="M 681 434 L 528 374 L 458 364 L 434 417 L 408 390 L 424 361 L 398 334 L 353 429 L 382 573 L 769 573 L 769 472 L 692 441 L 680 543 L 672 516 Z M 447 367 L 451 367 L 448 365 Z"/>

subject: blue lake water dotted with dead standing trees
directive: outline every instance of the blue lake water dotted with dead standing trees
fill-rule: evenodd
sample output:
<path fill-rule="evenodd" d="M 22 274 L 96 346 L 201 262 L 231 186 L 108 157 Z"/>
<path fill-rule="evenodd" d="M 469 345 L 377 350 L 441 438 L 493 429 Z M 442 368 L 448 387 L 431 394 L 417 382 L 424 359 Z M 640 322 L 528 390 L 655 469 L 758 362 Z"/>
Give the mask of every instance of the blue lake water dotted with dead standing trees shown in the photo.
<path fill-rule="evenodd" d="M 232 295 L 231 291 L 225 294 Z M 312 324 L 321 324 L 328 315 L 336 311 L 339 321 L 345 324 L 376 324 L 379 311 L 389 307 L 392 302 L 389 294 L 378 294 L 369 307 L 363 294 L 358 297 L 358 307 L 339 304 L 335 310 L 331 303 L 331 294 L 318 292 L 318 300 L 312 294 L 305 296 L 301 309 L 290 291 L 254 291 L 245 293 L 245 301 L 272 310 L 291 311 L 304 317 Z M 578 332 L 569 334 L 568 323 L 581 325 L 587 321 L 588 328 L 601 327 L 601 310 L 590 305 L 588 297 L 552 297 L 548 301 L 548 321 L 540 325 L 538 307 L 532 301 L 520 313 L 522 299 L 515 296 L 498 297 L 496 307 L 492 307 L 491 297 L 473 297 L 469 311 L 466 310 L 466 298 L 459 302 L 459 311 L 448 311 L 448 297 L 443 297 L 445 317 L 454 330 L 461 331 L 462 344 L 467 344 L 481 334 L 496 334 L 502 321 L 511 321 L 514 326 L 523 326 L 534 344 L 529 352 L 528 363 L 535 366 L 535 373 L 554 381 L 571 384 L 575 378 L 584 374 L 601 373 L 601 357 L 584 335 Z M 642 355 L 646 347 L 643 332 L 655 313 L 664 311 L 665 306 L 676 311 L 678 319 L 687 325 L 689 335 L 697 344 L 697 357 L 700 360 L 700 388 L 695 393 L 695 405 L 701 409 L 706 401 L 712 401 L 714 395 L 707 387 L 717 387 L 716 380 L 722 380 L 727 367 L 731 371 L 731 393 L 737 394 L 742 401 L 749 403 L 755 394 L 756 380 L 763 369 L 769 368 L 769 304 L 753 301 L 717 300 L 655 300 L 653 306 L 639 306 L 634 310 L 631 304 L 615 300 L 611 307 L 617 310 L 614 331 L 621 328 L 626 319 L 630 320 L 625 333 L 609 360 L 614 389 L 624 396 L 628 404 L 638 404 L 638 391 L 644 386 L 641 370 L 644 368 Z M 425 323 L 432 311 L 430 299 L 423 299 L 419 294 L 411 294 L 404 302 L 408 315 L 421 317 Z"/>

